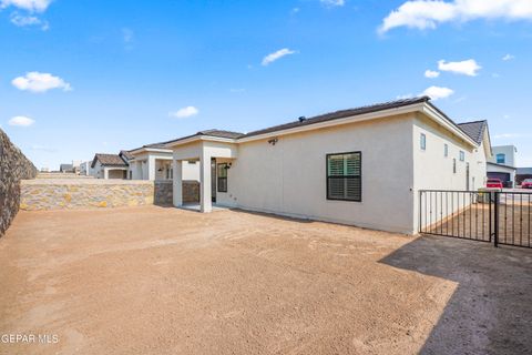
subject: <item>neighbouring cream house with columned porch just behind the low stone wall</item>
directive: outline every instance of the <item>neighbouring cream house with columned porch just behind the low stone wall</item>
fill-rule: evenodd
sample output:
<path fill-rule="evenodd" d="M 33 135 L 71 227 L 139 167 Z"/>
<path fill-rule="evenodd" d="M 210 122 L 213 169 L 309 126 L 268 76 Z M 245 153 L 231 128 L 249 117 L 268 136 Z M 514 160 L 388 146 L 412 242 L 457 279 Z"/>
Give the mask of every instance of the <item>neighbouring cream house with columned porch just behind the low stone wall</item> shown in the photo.
<path fill-rule="evenodd" d="M 163 143 L 143 145 L 127 151 L 130 155 L 129 179 L 171 180 L 173 178 L 172 150 Z M 200 181 L 200 164 L 196 161 L 183 162 L 183 180 Z"/>

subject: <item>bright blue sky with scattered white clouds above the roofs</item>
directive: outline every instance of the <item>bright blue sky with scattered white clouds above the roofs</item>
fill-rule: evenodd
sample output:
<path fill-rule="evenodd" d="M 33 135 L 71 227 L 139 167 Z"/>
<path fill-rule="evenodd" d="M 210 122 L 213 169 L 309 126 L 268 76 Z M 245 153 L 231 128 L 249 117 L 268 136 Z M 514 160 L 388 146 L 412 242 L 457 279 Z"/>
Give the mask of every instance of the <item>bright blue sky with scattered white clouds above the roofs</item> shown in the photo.
<path fill-rule="evenodd" d="M 0 0 L 0 125 L 58 169 L 428 92 L 531 166 L 531 44 L 529 0 Z"/>

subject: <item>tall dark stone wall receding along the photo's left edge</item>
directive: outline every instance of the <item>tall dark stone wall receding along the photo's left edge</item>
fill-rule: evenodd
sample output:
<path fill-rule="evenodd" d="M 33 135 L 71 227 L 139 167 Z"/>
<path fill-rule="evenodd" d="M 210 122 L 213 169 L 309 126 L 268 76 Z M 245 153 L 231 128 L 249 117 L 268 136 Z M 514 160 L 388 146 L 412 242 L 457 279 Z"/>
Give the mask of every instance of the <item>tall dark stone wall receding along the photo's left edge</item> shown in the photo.
<path fill-rule="evenodd" d="M 19 212 L 20 181 L 35 175 L 37 168 L 0 130 L 0 236 Z"/>

